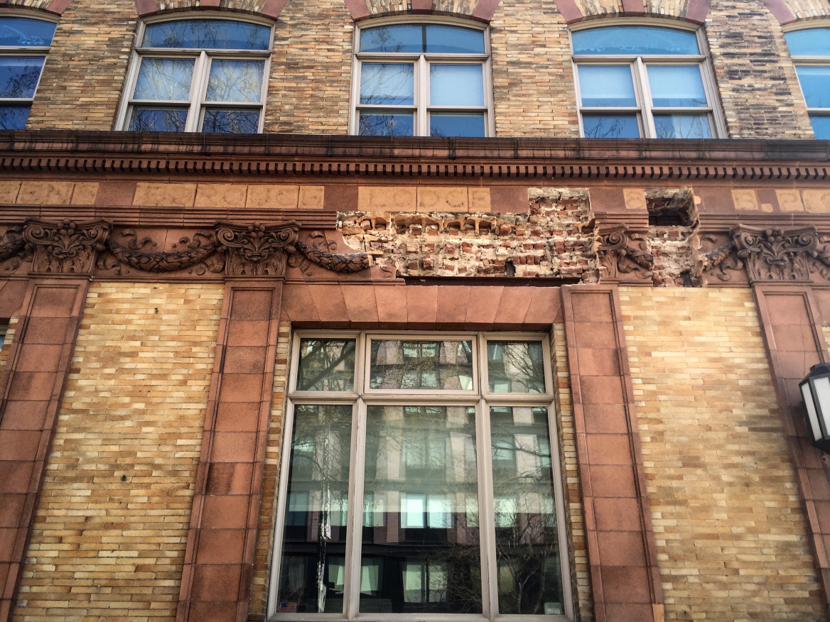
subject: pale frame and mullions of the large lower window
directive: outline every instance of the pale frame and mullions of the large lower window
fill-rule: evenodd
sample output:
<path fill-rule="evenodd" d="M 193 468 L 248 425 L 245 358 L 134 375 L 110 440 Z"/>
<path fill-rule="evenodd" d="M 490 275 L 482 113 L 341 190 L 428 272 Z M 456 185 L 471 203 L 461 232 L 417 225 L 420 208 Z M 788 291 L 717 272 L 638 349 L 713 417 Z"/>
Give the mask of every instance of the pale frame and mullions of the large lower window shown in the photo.
<path fill-rule="evenodd" d="M 355 340 L 354 390 L 353 391 L 297 391 L 295 389 L 299 369 L 300 339 L 303 338 L 330 338 Z M 369 362 L 372 339 L 403 339 L 403 340 L 471 340 L 474 388 L 471 391 L 426 391 L 416 390 L 378 390 L 369 388 Z M 488 391 L 487 378 L 487 351 L 486 343 L 493 341 L 504 342 L 535 342 L 542 346 L 544 361 L 544 393 L 491 393 Z M 359 620 L 360 622 L 389 622 L 389 620 L 403 620 L 404 622 L 483 622 L 484 620 L 500 620 L 510 622 L 567 622 L 574 620 L 574 600 L 570 581 L 569 545 L 566 530 L 564 508 L 564 485 L 559 456 L 559 425 L 557 409 L 554 400 L 554 377 L 551 362 L 549 334 L 545 333 L 441 333 L 441 332 L 395 332 L 385 333 L 377 331 L 296 331 L 292 335 L 290 372 L 288 377 L 288 394 L 286 399 L 286 416 L 283 425 L 283 439 L 281 445 L 281 477 L 277 487 L 276 524 L 274 529 L 274 545 L 271 556 L 271 581 L 266 607 L 266 619 L 276 620 Z M 280 564 L 282 558 L 282 539 L 286 527 L 286 505 L 288 498 L 288 474 L 291 465 L 291 440 L 294 434 L 294 407 L 300 405 L 352 405 L 351 428 L 351 457 L 348 508 L 349 526 L 363 526 L 364 501 L 364 467 L 365 447 L 361 443 L 361 435 L 366 430 L 366 411 L 368 406 L 387 405 L 425 405 L 425 406 L 470 406 L 476 410 L 476 454 L 478 458 L 478 498 L 479 498 L 479 525 L 481 551 L 481 615 L 477 614 L 372 614 L 358 613 L 360 592 L 360 556 L 362 530 L 359 527 L 349 528 L 349 539 L 345 545 L 345 566 L 349 569 L 349 577 L 344 582 L 344 614 L 318 613 L 279 613 L 278 592 L 280 582 Z M 494 494 L 492 493 L 492 464 L 490 408 L 493 406 L 538 406 L 548 412 L 548 431 L 551 453 L 552 479 L 554 483 L 554 499 L 552 500 L 558 532 L 559 563 L 562 577 L 564 600 L 564 615 L 507 615 L 499 614 L 496 610 L 498 602 L 498 567 L 496 564 L 496 513 Z M 545 468 L 545 467 L 543 467 Z M 357 578 L 355 578 L 357 577 Z"/>

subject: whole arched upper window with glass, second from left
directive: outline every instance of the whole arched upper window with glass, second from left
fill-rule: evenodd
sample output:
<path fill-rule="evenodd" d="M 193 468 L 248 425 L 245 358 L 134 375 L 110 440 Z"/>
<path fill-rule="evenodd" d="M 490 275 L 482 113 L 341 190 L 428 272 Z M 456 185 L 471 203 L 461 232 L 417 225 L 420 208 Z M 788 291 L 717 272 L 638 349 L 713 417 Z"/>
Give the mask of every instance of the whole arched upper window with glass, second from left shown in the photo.
<path fill-rule="evenodd" d="M 256 134 L 262 128 L 271 27 L 200 17 L 139 32 L 120 127 Z"/>

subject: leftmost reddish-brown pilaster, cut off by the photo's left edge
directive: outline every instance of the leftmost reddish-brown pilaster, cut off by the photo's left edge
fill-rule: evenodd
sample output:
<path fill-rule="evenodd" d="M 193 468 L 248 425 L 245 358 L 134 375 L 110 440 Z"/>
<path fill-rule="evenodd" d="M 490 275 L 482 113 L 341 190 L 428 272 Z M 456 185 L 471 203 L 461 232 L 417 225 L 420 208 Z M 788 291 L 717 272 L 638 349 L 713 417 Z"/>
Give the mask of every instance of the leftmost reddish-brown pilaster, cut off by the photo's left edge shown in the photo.
<path fill-rule="evenodd" d="M 88 279 L 29 281 L 0 377 L 0 621 L 11 619 Z"/>

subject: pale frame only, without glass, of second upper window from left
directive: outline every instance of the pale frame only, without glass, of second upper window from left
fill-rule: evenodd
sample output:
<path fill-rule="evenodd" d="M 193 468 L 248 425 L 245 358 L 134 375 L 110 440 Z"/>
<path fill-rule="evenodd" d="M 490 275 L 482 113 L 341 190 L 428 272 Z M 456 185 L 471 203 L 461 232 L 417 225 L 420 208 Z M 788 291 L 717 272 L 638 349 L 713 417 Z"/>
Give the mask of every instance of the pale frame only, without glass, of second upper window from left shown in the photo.
<path fill-rule="evenodd" d="M 139 46 L 139 41 L 144 41 L 144 32 L 147 26 L 159 22 L 180 22 L 188 21 L 190 19 L 215 19 L 232 22 L 247 22 L 256 24 L 258 26 L 267 26 L 271 29 L 269 38 L 269 46 L 267 50 L 217 50 L 217 49 L 199 49 L 199 48 L 182 48 L 182 47 L 143 47 Z M 204 111 L 209 108 L 239 108 L 239 109 L 259 109 L 259 124 L 257 132 L 261 133 L 265 122 L 265 106 L 266 95 L 268 91 L 268 76 L 271 74 L 271 54 L 274 51 L 274 24 L 265 19 L 256 19 L 251 17 L 237 16 L 233 13 L 213 13 L 213 12 L 187 12 L 176 14 L 175 17 L 169 16 L 153 17 L 146 21 L 139 22 L 139 26 L 135 32 L 135 45 L 130 54 L 129 71 L 127 72 L 126 88 L 124 96 L 121 99 L 118 114 L 115 119 L 115 129 L 128 130 L 129 118 L 133 105 L 171 105 L 176 108 L 184 109 L 184 104 L 179 101 L 171 100 L 134 100 L 133 92 L 135 90 L 136 81 L 139 77 L 139 69 L 142 58 L 192 58 L 193 63 L 193 79 L 190 83 L 190 92 L 188 94 L 189 104 L 188 117 L 185 122 L 184 132 L 201 132 L 204 119 Z M 213 60 L 230 60 L 230 61 L 265 61 L 262 70 L 262 87 L 260 91 L 260 100 L 256 102 L 208 102 L 205 99 L 207 94 L 207 79 L 209 77 L 210 64 Z"/>

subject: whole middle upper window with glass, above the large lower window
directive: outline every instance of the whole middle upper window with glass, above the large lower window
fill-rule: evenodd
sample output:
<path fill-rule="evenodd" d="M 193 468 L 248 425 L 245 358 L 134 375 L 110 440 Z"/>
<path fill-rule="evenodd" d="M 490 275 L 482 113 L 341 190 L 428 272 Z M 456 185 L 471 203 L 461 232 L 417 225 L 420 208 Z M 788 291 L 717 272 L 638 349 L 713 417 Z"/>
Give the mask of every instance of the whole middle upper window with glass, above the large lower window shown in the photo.
<path fill-rule="evenodd" d="M 359 29 L 351 133 L 491 136 L 486 31 L 432 23 Z"/>

